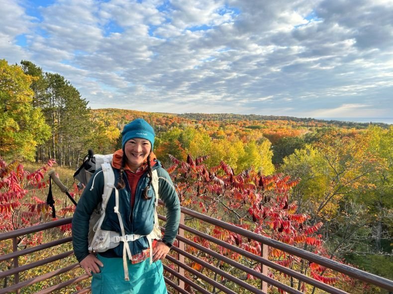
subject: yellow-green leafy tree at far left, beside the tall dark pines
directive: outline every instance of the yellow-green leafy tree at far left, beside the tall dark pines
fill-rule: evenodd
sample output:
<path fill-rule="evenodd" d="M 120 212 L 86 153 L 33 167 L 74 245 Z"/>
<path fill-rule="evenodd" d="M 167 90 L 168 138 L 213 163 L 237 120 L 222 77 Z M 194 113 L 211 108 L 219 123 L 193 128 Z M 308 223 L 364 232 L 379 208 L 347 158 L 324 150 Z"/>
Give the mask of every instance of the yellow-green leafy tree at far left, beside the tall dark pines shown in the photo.
<path fill-rule="evenodd" d="M 33 106 L 34 78 L 0 60 L 0 155 L 34 158 L 35 148 L 49 136 L 39 108 Z"/>

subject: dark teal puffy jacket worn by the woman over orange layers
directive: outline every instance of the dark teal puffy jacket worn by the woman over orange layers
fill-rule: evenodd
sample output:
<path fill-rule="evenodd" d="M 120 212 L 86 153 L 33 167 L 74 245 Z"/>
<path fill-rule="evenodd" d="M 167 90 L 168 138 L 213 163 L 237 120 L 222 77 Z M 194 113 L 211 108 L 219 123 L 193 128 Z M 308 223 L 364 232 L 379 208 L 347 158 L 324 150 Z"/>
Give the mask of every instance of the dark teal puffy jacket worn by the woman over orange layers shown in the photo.
<path fill-rule="evenodd" d="M 163 241 L 173 244 L 180 221 L 180 202 L 179 197 L 176 193 L 174 185 L 168 172 L 161 166 L 161 163 L 157 160 L 157 163 L 152 167 L 157 169 L 159 177 L 158 181 L 158 193 L 160 198 L 165 204 L 167 210 L 167 222 L 165 225 L 165 235 Z M 90 182 L 86 186 L 82 197 L 80 198 L 77 208 L 74 212 L 74 218 L 72 220 L 72 243 L 74 247 L 74 253 L 78 261 L 81 262 L 88 254 L 88 232 L 89 232 L 89 220 L 94 209 L 98 206 L 98 203 L 102 200 L 103 191 L 103 174 L 98 173 L 101 169 L 98 169 L 92 176 Z M 119 178 L 119 170 L 113 168 L 115 175 L 115 186 Z M 95 178 L 97 174 L 97 177 Z M 150 200 L 143 199 L 143 191 L 148 184 L 148 173 L 145 172 L 139 179 L 136 188 L 136 197 L 134 209 L 131 216 L 130 207 L 130 188 L 127 181 L 127 176 L 124 173 L 123 179 L 125 179 L 126 187 L 119 190 L 119 211 L 124 224 L 124 230 L 126 234 L 140 234 L 147 235 L 153 229 L 154 224 L 154 201 L 155 193 L 153 187 L 149 189 Z M 166 180 L 162 179 L 165 178 Z M 90 191 L 93 184 L 94 188 Z M 109 198 L 108 204 L 105 210 L 105 218 L 102 222 L 101 229 L 112 230 L 120 232 L 120 224 L 117 214 L 113 208 L 115 206 L 114 189 L 112 195 Z M 135 241 L 128 242 L 131 254 L 137 254 L 144 249 L 149 247 L 149 243 L 146 237 L 139 238 Z M 123 243 L 120 242 L 119 246 L 113 249 L 118 257 L 123 255 Z"/>

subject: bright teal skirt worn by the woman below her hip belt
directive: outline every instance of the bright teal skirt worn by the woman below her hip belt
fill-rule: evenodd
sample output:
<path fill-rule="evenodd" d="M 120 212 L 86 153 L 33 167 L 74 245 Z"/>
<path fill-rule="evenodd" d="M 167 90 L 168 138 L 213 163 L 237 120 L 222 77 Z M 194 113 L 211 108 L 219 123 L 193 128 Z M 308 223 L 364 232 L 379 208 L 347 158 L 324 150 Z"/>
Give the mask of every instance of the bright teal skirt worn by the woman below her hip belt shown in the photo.
<path fill-rule="evenodd" d="M 167 294 L 161 260 L 150 264 L 150 258 L 136 264 L 128 261 L 129 281 L 124 281 L 122 258 L 105 258 L 100 273 L 93 274 L 92 294 Z"/>

